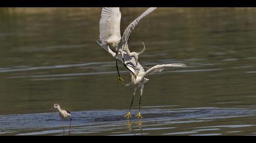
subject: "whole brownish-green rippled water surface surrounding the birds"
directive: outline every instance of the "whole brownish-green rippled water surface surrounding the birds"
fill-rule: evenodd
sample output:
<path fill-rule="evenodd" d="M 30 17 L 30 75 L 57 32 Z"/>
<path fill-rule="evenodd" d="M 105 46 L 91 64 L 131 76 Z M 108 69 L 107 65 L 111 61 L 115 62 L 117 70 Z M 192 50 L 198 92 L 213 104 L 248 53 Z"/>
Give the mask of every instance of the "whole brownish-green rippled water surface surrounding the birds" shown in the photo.
<path fill-rule="evenodd" d="M 146 8 L 121 8 L 121 31 Z M 149 76 L 144 119 L 96 39 L 101 8 L 0 8 L 0 135 L 256 135 L 256 8 L 158 8 L 132 32 Z M 126 68 L 121 75 L 129 81 Z M 138 98 L 132 115 L 137 114 Z M 65 122 L 68 135 L 68 121 Z"/>

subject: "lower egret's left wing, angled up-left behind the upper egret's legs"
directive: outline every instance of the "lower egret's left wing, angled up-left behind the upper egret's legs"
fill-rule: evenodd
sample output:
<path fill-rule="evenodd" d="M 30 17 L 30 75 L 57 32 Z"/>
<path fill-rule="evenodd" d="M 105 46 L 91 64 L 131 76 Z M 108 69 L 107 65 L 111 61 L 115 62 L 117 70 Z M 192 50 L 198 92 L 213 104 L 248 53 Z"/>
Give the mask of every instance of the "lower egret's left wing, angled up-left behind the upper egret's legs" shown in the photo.
<path fill-rule="evenodd" d="M 110 47 L 108 47 L 107 44 L 104 44 L 104 43 L 102 43 L 102 42 L 99 41 L 99 40 L 96 41 L 96 42 L 98 43 L 98 45 L 99 45 L 101 48 L 103 48 L 105 51 L 107 51 L 108 53 L 110 53 L 110 54 L 113 56 L 113 58 L 116 57 L 116 53 L 113 52 L 113 51 L 110 49 Z M 120 53 L 118 53 L 118 60 L 121 61 L 121 62 L 123 62 L 123 59 L 122 59 L 122 56 L 121 56 Z M 126 52 L 124 52 L 124 62 L 125 62 L 125 64 L 126 64 L 126 66 L 130 69 L 130 71 L 132 71 L 132 72 L 134 73 L 135 70 L 134 70 L 133 67 L 135 67 L 135 65 L 136 65 L 135 58 L 134 58 L 133 56 L 129 56 Z M 138 65 L 139 65 L 139 64 L 140 64 L 140 63 L 138 63 Z"/>

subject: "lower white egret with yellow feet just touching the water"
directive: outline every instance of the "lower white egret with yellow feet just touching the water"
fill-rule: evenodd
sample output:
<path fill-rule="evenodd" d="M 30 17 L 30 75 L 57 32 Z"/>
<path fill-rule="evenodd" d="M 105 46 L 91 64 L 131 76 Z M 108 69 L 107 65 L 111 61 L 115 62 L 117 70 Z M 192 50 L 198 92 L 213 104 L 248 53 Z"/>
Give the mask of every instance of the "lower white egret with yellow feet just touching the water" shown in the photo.
<path fill-rule="evenodd" d="M 117 57 L 117 59 L 121 62 L 123 61 L 122 56 L 120 54 L 118 54 L 116 56 L 116 53 L 113 52 L 111 50 L 111 48 L 108 47 L 108 45 L 102 44 L 101 41 L 99 41 L 99 40 L 97 42 L 104 50 L 106 50 L 108 53 L 110 53 L 113 57 Z M 126 47 L 126 51 L 129 52 L 128 47 Z M 137 88 L 140 88 L 140 102 L 139 102 L 139 112 L 135 117 L 137 117 L 138 119 L 143 118 L 141 116 L 141 111 L 140 111 L 141 110 L 141 97 L 142 97 L 142 93 L 144 90 L 144 84 L 149 81 L 149 79 L 146 78 L 147 76 L 152 75 L 157 72 L 161 72 L 164 70 L 165 67 L 187 67 L 187 65 L 185 65 L 185 64 L 162 64 L 162 65 L 155 65 L 154 67 L 151 67 L 147 71 L 145 71 L 143 66 L 140 64 L 140 62 L 136 61 L 136 59 L 133 56 L 129 56 L 126 52 L 124 52 L 123 57 L 124 57 L 124 64 L 126 64 L 127 67 L 129 68 L 129 70 L 131 70 L 133 73 L 133 74 L 131 74 L 130 84 L 127 84 L 127 86 L 132 85 L 133 91 L 134 91 L 133 96 L 132 96 L 132 102 L 130 104 L 130 109 L 129 109 L 127 115 L 124 116 L 124 117 L 127 117 L 127 119 L 132 118 L 130 110 L 132 108 L 133 99 L 134 99 L 135 93 L 137 91 Z"/>

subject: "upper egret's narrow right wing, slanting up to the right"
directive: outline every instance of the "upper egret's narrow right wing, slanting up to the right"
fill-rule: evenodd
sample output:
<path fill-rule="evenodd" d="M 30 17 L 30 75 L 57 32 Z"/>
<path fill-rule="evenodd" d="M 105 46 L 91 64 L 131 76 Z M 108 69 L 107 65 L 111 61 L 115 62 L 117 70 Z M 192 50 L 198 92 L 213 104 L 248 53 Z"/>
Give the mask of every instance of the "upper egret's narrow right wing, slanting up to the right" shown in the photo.
<path fill-rule="evenodd" d="M 146 10 L 142 15 L 140 15 L 137 19 L 135 19 L 132 23 L 129 24 L 129 26 L 124 30 L 124 34 L 122 36 L 123 43 L 126 43 L 129 39 L 130 33 L 132 30 L 138 25 L 138 22 L 140 22 L 140 19 L 144 18 L 149 13 L 153 12 L 157 7 L 150 7 L 148 10 Z"/>

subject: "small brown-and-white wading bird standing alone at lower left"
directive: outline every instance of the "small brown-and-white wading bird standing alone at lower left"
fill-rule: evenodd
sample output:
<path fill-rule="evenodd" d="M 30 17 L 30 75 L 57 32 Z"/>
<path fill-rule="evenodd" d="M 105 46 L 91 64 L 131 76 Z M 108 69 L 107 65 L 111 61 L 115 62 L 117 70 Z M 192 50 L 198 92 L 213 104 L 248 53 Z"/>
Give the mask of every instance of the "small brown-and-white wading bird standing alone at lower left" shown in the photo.
<path fill-rule="evenodd" d="M 57 108 L 57 110 L 59 111 L 60 118 L 62 118 L 63 133 L 65 132 L 64 120 L 70 119 L 70 124 L 69 124 L 69 134 L 70 134 L 71 121 L 72 121 L 71 112 L 69 110 L 66 110 L 66 109 L 63 110 L 62 108 L 60 108 L 59 104 L 54 104 L 54 108 Z M 54 108 L 50 108 L 49 110 L 52 110 Z"/>

